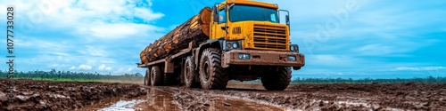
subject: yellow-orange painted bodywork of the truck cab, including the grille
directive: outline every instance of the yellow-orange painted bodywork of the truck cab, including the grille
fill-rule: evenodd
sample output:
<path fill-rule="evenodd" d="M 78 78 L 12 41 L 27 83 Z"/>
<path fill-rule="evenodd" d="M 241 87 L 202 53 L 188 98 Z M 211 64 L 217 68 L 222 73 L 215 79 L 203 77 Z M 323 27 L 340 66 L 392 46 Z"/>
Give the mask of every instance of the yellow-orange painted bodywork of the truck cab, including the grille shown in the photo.
<path fill-rule="evenodd" d="M 250 0 L 227 0 L 226 2 L 222 2 L 221 4 L 219 4 L 219 9 L 221 10 L 230 4 L 255 5 L 260 7 L 278 9 L 278 6 L 276 4 L 268 4 Z M 227 15 L 229 15 L 229 13 L 227 13 Z M 211 20 L 213 20 L 212 15 L 211 15 Z M 256 26 L 255 28 L 257 29 L 264 29 L 269 31 L 268 32 L 254 31 L 254 25 Z M 221 29 L 222 27 L 226 26 L 228 27 L 227 31 Z M 233 28 L 236 27 L 241 28 L 241 34 L 233 34 Z M 289 28 L 284 24 L 273 23 L 268 21 L 238 21 L 233 23 L 227 20 L 227 23 L 217 23 L 211 21 L 210 28 L 211 28 L 210 39 L 218 39 L 224 37 L 226 40 L 242 40 L 242 46 L 244 49 L 274 50 L 274 51 L 290 50 Z M 277 34 L 278 32 L 284 32 L 285 34 Z M 254 36 L 254 34 L 256 34 L 257 36 Z M 277 38 L 277 36 L 281 37 Z M 257 39 L 258 41 L 254 42 L 254 39 Z M 259 42 L 259 40 L 261 40 L 261 42 Z"/>

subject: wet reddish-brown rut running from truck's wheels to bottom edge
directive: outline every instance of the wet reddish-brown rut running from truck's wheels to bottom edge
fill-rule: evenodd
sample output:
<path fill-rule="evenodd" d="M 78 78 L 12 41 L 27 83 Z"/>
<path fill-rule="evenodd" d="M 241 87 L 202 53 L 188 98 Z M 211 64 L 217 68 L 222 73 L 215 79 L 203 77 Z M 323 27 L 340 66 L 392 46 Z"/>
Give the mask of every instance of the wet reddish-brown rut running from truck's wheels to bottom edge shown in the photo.
<path fill-rule="evenodd" d="M 188 89 L 184 87 L 152 88 L 171 93 L 174 99 L 173 102 L 177 104 L 181 110 L 285 110 L 277 106 L 259 103 L 249 99 L 219 95 L 202 89 Z"/>

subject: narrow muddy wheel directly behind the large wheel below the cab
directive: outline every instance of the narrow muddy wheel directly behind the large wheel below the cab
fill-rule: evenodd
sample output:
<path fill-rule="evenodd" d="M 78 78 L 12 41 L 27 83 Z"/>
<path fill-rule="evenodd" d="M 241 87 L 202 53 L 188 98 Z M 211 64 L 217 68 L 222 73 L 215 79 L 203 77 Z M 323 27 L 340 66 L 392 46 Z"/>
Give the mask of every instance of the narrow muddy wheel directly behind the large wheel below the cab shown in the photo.
<path fill-rule="evenodd" d="M 200 83 L 195 81 L 195 75 L 196 70 L 194 58 L 192 58 L 192 56 L 188 56 L 183 67 L 183 75 L 181 78 L 185 83 L 186 88 L 195 88 L 200 86 Z"/>

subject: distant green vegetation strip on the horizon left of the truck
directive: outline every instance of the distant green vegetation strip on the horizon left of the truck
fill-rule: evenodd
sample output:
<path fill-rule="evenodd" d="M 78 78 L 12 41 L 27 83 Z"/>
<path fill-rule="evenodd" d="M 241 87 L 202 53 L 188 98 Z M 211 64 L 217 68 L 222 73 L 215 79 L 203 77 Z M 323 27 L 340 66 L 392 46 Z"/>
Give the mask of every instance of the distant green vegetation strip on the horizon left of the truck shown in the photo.
<path fill-rule="evenodd" d="M 0 78 L 6 78 L 7 72 L 0 71 Z M 70 71 L 28 71 L 15 72 L 16 79 L 33 79 L 49 81 L 77 81 L 77 82 L 143 82 L 144 75 L 124 74 L 124 75 L 101 75 L 98 73 L 78 73 Z"/>

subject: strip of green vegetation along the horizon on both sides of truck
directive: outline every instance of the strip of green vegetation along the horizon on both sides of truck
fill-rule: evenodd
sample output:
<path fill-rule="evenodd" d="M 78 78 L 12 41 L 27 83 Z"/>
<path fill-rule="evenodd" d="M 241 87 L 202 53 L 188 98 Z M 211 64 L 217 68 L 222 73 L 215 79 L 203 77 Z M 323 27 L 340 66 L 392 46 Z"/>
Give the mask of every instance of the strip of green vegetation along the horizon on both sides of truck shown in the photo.
<path fill-rule="evenodd" d="M 7 72 L 0 71 L 0 78 L 6 78 Z M 101 75 L 98 73 L 78 73 L 70 71 L 28 71 L 15 72 L 14 78 L 49 80 L 49 81 L 77 81 L 77 82 L 143 82 L 144 75 Z M 291 83 L 446 83 L 446 77 L 427 76 L 425 78 L 394 78 L 394 79 L 343 79 L 343 78 L 296 78 Z M 250 83 L 250 82 L 248 82 Z M 260 80 L 251 81 L 260 83 Z"/>

